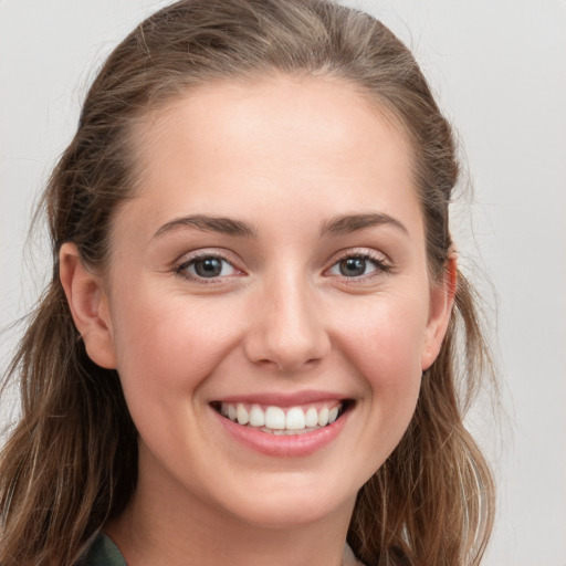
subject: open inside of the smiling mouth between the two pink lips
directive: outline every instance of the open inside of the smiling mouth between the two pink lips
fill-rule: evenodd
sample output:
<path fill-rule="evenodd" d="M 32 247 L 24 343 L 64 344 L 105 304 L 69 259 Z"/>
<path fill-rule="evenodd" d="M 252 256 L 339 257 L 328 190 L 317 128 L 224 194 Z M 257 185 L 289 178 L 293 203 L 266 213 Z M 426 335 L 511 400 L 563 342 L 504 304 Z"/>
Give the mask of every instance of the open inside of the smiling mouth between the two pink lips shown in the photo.
<path fill-rule="evenodd" d="M 294 436 L 329 427 L 352 408 L 354 401 L 343 399 L 295 407 L 223 401 L 213 401 L 210 405 L 219 415 L 235 424 L 268 434 Z"/>

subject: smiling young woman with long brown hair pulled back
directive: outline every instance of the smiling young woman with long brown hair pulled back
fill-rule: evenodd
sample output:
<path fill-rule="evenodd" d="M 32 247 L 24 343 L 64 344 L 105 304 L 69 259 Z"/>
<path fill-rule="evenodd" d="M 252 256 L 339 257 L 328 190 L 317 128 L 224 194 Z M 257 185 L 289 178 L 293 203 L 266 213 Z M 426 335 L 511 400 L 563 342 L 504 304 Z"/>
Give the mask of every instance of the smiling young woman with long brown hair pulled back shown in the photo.
<path fill-rule="evenodd" d="M 457 179 L 369 15 L 184 0 L 143 22 L 45 192 L 0 564 L 478 564 L 493 488 L 457 395 L 457 359 L 470 391 L 485 361 Z"/>

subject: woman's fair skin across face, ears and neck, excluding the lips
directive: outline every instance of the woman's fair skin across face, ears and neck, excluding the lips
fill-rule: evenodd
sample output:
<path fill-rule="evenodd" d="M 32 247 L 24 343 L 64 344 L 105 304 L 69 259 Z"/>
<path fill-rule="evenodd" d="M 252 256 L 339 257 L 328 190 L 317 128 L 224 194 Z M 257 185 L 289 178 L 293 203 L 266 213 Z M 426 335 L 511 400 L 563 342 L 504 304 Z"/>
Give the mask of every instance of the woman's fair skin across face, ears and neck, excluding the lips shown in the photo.
<path fill-rule="evenodd" d="M 88 355 L 118 369 L 139 431 L 138 488 L 107 532 L 134 566 L 337 566 L 356 493 L 401 439 L 452 307 L 455 260 L 430 281 L 408 142 L 350 86 L 285 76 L 200 87 L 133 139 L 142 180 L 107 272 L 61 251 Z M 170 226 L 195 214 L 253 235 Z M 327 230 L 360 214 L 387 221 Z M 224 258 L 221 275 L 196 277 L 195 253 Z M 340 272 L 365 255 L 361 275 Z M 234 441 L 210 405 L 304 391 L 352 409 L 301 457 Z"/>

